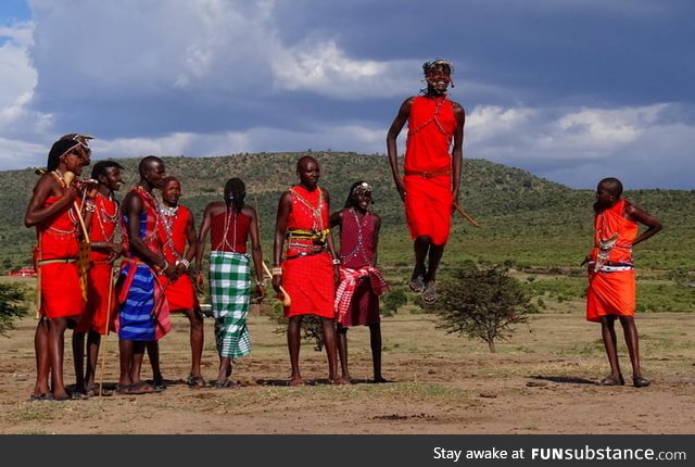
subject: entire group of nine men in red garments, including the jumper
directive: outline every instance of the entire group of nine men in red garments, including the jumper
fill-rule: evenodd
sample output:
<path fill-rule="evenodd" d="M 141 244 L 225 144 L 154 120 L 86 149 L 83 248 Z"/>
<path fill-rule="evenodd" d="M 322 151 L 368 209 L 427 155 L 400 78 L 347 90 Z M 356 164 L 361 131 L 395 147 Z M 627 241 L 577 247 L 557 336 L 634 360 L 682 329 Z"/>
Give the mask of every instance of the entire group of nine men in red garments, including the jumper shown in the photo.
<path fill-rule="evenodd" d="M 421 293 L 424 303 L 431 304 L 437 300 L 437 272 L 448 240 L 452 213 L 458 207 L 465 111 L 447 93 L 448 86 L 453 86 L 451 64 L 435 60 L 425 63 L 422 68 L 427 88 L 421 96 L 410 97 L 401 105 L 387 135 L 387 151 L 413 239 L 415 265 L 408 286 Z M 406 123 L 408 135 L 401 175 L 396 139 Z M 92 180 L 73 179 L 90 164 L 89 139 L 73 134 L 53 144 L 47 172 L 37 182 L 25 215 L 25 225 L 37 229 L 35 263 L 40 285 L 40 319 L 35 337 L 37 381 L 33 399 L 71 397 L 62 367 L 63 336 L 73 326 L 76 326 L 73 350 L 77 376 L 73 396 L 90 394 L 97 389 L 102 392 L 96 383 L 97 357 L 100 337 L 110 328 L 117 330 L 119 337 L 118 392 L 160 391 L 163 378 L 157 341 L 170 330 L 169 312 L 174 310 L 182 312 L 190 321 L 192 358 L 188 383 L 206 386 L 201 375 L 203 321 L 187 270 L 194 260 L 193 281 L 200 290 L 208 235 L 208 282 L 219 355 L 214 386 L 233 386 L 229 379 L 233 359 L 250 351 L 245 323 L 251 295 L 250 256 L 260 299 L 265 295 L 264 272 L 267 270 L 263 264 L 257 213 L 244 203 L 243 181 L 239 178 L 227 181 L 224 200 L 206 206 L 197 235 L 192 214 L 178 204 L 180 184 L 175 177 L 165 177 L 160 157 L 147 156 L 140 162 L 140 180 L 126 194 L 121 207 L 113 198 L 113 192 L 123 185 L 123 167 L 116 162 L 94 164 Z M 300 159 L 296 175 L 299 184 L 280 197 L 273 268 L 267 270 L 273 288 L 286 301 L 291 364 L 288 383 L 303 384 L 299 354 L 301 325 L 306 315 L 321 320 L 329 382 L 350 381 L 346 330 L 354 325 L 369 326 L 374 381 L 383 382 L 378 294 L 387 290 L 388 285 L 376 268 L 380 218 L 369 209 L 371 186 L 362 180 L 354 184 L 344 209 L 331 214 L 329 193 L 318 186 L 318 162 L 311 156 Z M 153 189 L 162 191 L 162 206 L 153 197 Z M 587 257 L 591 261 L 587 319 L 602 323 L 611 366 L 611 375 L 602 383 L 623 383 L 615 350 L 614 323 L 618 316 L 626 328 L 634 386 L 644 387 L 649 382 L 640 371 L 636 328 L 632 320 L 631 247 L 656 234 L 660 223 L 621 201 L 620 193 L 617 179 L 604 179 L 598 186 L 596 245 Z M 607 222 L 607 214 L 612 212 L 622 220 Z M 648 226 L 648 230 L 639 236 L 637 223 Z M 114 238 L 118 225 L 121 242 Z M 340 251 L 333 244 L 331 227 L 340 227 Z M 629 232 L 620 234 L 624 229 Z M 251 255 L 247 252 L 249 240 Z M 81 280 L 84 290 L 80 290 L 79 277 L 80 242 L 91 248 L 88 280 L 84 277 Z M 622 251 L 620 248 L 626 252 L 622 256 L 616 253 Z M 85 256 L 84 251 L 81 255 Z M 113 264 L 121 255 L 114 288 Z M 624 272 L 632 274 L 627 282 L 611 282 L 621 276 L 615 273 Z M 624 300 L 616 301 L 610 299 L 615 288 L 631 291 L 623 294 Z M 80 295 L 86 300 L 79 300 Z M 152 383 L 140 378 L 146 352 L 152 364 Z M 338 367 L 339 357 L 342 373 Z"/>

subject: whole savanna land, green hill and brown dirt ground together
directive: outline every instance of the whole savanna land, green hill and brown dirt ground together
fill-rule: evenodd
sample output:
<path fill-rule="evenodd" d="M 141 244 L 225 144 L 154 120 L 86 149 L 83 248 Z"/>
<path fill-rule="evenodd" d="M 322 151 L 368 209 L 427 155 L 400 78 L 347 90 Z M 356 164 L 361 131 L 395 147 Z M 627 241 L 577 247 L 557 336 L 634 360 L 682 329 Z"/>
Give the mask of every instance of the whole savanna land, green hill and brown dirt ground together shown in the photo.
<path fill-rule="evenodd" d="M 181 203 L 200 218 L 231 176 L 244 179 L 247 202 L 261 213 L 266 260 L 280 192 L 294 181 L 303 154 L 167 157 L 167 173 L 184 187 Z M 626 195 L 665 225 L 635 249 L 637 328 L 648 388 L 630 383 L 619 333 L 624 387 L 599 387 L 608 364 L 599 326 L 584 320 L 585 276 L 579 266 L 591 247 L 591 190 L 573 190 L 485 161 L 464 164 L 462 204 L 476 228 L 457 217 L 441 275 L 466 263 L 501 265 L 530 298 L 532 313 L 491 353 L 485 342 L 447 333 L 432 310 L 406 290 L 410 245 L 388 163 L 380 155 L 316 153 L 332 209 L 342 206 L 357 178 L 375 186 L 375 211 L 383 218 L 379 264 L 392 293 L 407 301 L 382 317 L 383 375 L 370 383 L 367 328 L 349 332 L 354 383 L 326 383 L 326 357 L 314 342 L 302 346 L 302 388 L 286 386 L 289 359 L 273 296 L 253 305 L 252 355 L 235 366 L 236 388 L 190 388 L 188 324 L 175 316 L 161 342 L 167 389 L 155 394 L 81 401 L 31 402 L 34 384 L 33 278 L 3 277 L 22 290 L 27 315 L 0 337 L 1 433 L 694 433 L 695 432 L 695 193 L 635 190 Z M 124 160 L 126 185 L 137 181 L 137 161 Z M 599 177 L 614 175 L 602 174 Z M 36 180 L 34 169 L 0 173 L 0 269 L 30 265 L 34 232 L 22 216 Z M 630 187 L 626 187 L 630 188 Z M 121 194 L 121 197 L 123 193 Z M 202 298 L 206 300 L 205 296 Z M 386 310 L 384 310 L 386 312 Z M 205 320 L 203 371 L 213 379 L 217 356 L 212 320 Z M 117 340 L 106 339 L 103 381 L 117 381 Z M 70 340 L 66 380 L 74 380 Z M 143 375 L 150 376 L 146 362 Z"/>

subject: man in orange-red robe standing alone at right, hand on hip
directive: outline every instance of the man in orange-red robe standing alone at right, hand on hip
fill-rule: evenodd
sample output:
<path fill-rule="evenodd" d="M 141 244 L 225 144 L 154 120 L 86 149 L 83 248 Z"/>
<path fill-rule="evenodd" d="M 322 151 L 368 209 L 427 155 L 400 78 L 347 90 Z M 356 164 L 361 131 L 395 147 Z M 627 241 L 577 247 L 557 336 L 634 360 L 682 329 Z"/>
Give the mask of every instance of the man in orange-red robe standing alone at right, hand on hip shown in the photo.
<path fill-rule="evenodd" d="M 649 386 L 649 381 L 642 376 L 640 368 L 632 248 L 661 230 L 661 223 L 621 195 L 622 184 L 617 178 L 604 178 L 598 182 L 594 203 L 594 248 L 584 260 L 589 263 L 586 319 L 601 323 L 601 335 L 610 364 L 610 375 L 599 384 L 624 384 L 615 329 L 616 319 L 620 319 L 632 364 L 632 383 L 635 388 L 644 388 Z M 647 227 L 642 234 L 640 224 Z"/>

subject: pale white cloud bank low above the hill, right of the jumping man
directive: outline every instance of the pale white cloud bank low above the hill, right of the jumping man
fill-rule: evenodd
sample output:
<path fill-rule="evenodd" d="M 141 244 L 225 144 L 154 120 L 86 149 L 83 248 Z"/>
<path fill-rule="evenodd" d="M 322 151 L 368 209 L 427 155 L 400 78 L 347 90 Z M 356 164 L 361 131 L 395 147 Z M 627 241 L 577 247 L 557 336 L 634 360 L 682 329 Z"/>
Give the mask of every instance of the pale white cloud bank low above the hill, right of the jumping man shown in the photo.
<path fill-rule="evenodd" d="M 639 188 L 692 188 L 684 174 L 695 169 L 690 150 L 695 125 L 682 118 L 692 112 L 666 103 L 621 109 L 480 106 L 468 116 L 466 154 L 574 188 L 593 188 L 605 176 Z"/>

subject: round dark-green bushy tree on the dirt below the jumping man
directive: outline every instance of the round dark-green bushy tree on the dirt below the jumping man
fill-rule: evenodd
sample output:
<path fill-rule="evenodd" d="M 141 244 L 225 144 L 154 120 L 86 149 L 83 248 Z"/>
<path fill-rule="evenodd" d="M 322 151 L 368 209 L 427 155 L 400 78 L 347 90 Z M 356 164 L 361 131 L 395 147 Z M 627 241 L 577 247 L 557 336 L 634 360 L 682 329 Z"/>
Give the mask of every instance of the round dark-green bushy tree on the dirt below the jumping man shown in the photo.
<path fill-rule="evenodd" d="M 532 310 L 521 282 L 506 268 L 479 268 L 472 263 L 444 278 L 439 285 L 439 300 L 428 306 L 442 319 L 439 328 L 481 339 L 490 352 L 496 352 L 496 340 L 511 336 L 514 325 L 527 323 Z"/>

